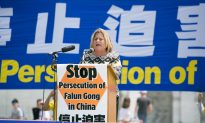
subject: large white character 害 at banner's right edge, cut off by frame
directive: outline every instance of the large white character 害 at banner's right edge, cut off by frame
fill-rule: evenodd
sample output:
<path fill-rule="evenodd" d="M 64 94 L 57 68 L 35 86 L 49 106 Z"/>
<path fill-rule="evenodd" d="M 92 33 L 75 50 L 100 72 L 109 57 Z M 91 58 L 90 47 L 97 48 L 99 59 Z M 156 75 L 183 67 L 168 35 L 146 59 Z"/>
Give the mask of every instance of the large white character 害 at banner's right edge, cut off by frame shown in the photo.
<path fill-rule="evenodd" d="M 178 58 L 205 57 L 205 4 L 180 6 L 177 19 L 181 23 Z"/>

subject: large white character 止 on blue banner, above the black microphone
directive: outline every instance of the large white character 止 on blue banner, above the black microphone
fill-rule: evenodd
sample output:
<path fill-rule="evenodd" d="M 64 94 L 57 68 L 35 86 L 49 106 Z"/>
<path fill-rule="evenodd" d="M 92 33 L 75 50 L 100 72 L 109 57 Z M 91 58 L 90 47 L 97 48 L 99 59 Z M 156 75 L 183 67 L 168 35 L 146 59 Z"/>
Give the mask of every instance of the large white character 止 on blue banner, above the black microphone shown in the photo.
<path fill-rule="evenodd" d="M 54 29 L 52 43 L 46 43 L 46 29 L 48 22 L 48 13 L 38 14 L 36 34 L 34 44 L 28 44 L 27 53 L 50 53 L 58 51 L 67 45 L 75 45 L 75 50 L 69 53 L 79 54 L 79 44 L 63 43 L 64 30 L 66 28 L 80 28 L 80 18 L 66 17 L 66 4 L 57 3 L 55 10 Z"/>

